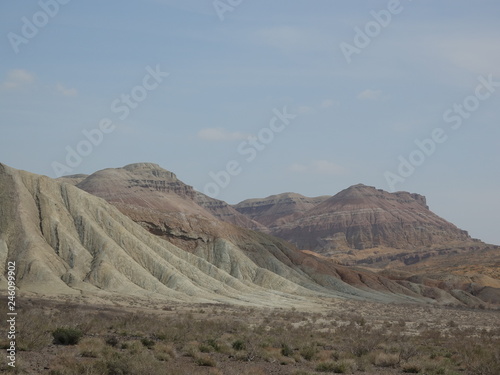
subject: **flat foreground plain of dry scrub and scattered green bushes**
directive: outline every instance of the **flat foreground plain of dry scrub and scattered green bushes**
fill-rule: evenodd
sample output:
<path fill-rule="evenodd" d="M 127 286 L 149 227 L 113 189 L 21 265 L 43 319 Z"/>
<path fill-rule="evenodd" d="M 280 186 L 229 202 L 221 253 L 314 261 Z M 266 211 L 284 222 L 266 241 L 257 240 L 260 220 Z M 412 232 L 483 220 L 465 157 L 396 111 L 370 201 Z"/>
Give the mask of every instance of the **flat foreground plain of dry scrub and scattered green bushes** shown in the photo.
<path fill-rule="evenodd" d="M 26 304 L 35 331 L 20 337 L 24 347 L 18 355 L 22 366 L 33 353 L 45 353 L 50 375 L 254 375 L 270 369 L 296 375 L 500 373 L 500 317 L 493 311 L 450 310 L 451 320 L 447 310 L 434 309 L 430 315 L 422 307 L 407 307 L 422 310 L 425 321 L 420 322 L 412 321 L 415 314 L 390 309 L 380 313 L 383 319 L 374 319 L 360 317 L 358 310 L 250 312 L 203 305 L 182 307 L 182 314 L 161 308 L 139 314 L 44 303 Z M 481 325 L 470 318 L 474 314 L 489 315 Z M 47 352 L 49 347 L 55 349 Z"/>

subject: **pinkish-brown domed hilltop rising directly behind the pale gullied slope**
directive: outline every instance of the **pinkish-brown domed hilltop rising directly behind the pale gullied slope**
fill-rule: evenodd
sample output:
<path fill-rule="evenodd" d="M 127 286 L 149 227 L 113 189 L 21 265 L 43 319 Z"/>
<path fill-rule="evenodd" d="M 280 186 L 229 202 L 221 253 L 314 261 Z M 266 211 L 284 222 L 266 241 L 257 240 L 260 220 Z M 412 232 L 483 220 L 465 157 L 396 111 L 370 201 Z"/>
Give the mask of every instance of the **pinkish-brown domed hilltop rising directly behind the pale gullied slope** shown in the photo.
<path fill-rule="evenodd" d="M 169 236 L 182 232 L 188 237 L 210 235 L 216 222 L 244 228 L 266 228 L 237 212 L 223 201 L 212 199 L 186 185 L 176 175 L 157 164 L 137 163 L 123 168 L 105 169 L 88 176 L 77 185 L 105 199 L 152 233 Z"/>

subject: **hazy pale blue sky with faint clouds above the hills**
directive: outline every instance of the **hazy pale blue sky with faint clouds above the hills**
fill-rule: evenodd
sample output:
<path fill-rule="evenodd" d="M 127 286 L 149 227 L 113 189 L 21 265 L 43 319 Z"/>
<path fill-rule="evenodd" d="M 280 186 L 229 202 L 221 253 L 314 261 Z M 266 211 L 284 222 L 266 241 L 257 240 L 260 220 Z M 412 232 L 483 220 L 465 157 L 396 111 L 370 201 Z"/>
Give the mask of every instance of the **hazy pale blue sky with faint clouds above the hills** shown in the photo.
<path fill-rule="evenodd" d="M 500 2 L 0 3 L 0 162 L 229 203 L 363 183 L 500 244 Z"/>

